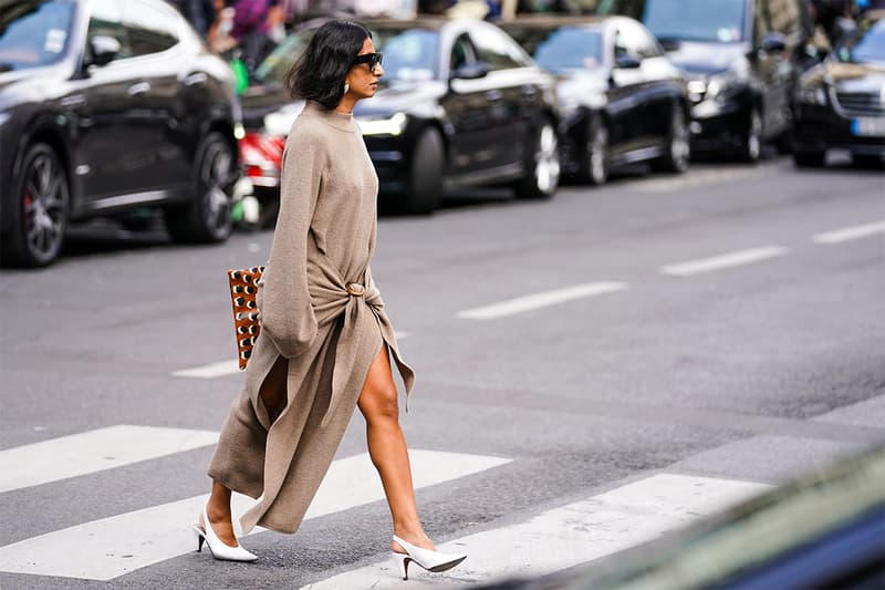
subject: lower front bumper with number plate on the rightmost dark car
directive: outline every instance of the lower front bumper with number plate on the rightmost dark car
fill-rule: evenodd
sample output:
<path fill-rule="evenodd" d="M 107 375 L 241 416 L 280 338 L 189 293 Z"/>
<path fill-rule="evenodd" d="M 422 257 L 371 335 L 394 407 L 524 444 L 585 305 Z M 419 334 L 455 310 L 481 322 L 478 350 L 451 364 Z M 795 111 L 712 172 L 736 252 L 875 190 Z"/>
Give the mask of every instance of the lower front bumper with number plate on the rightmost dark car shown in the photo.
<path fill-rule="evenodd" d="M 864 117 L 877 120 L 882 135 L 860 134 L 860 118 L 843 116 L 830 105 L 800 104 L 793 127 L 796 149 L 825 152 L 834 148 L 857 155 L 885 155 L 885 115 Z"/>

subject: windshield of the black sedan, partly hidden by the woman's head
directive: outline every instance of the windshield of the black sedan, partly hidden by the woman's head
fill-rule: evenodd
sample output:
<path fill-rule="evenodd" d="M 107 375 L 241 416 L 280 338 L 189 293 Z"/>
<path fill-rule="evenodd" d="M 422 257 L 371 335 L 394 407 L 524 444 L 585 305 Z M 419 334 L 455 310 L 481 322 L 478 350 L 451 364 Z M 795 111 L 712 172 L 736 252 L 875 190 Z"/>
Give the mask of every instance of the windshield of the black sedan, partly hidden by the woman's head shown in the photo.
<path fill-rule="evenodd" d="M 285 74 L 306 49 L 315 29 L 289 35 L 256 69 L 254 77 L 264 84 L 282 84 Z M 384 53 L 383 81 L 431 80 L 437 75 L 439 34 L 430 29 L 373 29 L 375 49 Z"/>

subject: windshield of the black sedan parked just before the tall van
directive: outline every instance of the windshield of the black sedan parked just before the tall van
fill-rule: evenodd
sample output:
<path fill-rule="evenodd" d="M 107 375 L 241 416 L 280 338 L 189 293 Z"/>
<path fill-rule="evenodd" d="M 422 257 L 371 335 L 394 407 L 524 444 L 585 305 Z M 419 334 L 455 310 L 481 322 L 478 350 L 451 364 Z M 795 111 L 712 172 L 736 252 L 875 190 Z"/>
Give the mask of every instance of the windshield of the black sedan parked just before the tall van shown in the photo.
<path fill-rule="evenodd" d="M 559 29 L 508 29 L 538 65 L 566 73 L 602 64 L 602 32 L 586 27 Z"/>

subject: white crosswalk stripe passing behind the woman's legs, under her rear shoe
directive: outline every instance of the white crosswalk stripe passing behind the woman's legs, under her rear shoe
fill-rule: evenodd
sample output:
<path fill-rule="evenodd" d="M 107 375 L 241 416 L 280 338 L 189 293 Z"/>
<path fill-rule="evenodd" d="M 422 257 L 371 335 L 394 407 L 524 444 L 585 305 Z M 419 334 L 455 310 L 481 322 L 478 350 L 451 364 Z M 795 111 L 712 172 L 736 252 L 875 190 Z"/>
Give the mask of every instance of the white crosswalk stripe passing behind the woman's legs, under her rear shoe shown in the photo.
<path fill-rule="evenodd" d="M 412 451 L 410 458 L 416 489 L 511 460 L 436 451 Z M 207 498 L 208 495 L 195 496 L 0 547 L 0 571 L 112 580 L 194 551 L 196 537 L 190 524 L 196 521 Z M 381 480 L 367 454 L 339 459 L 333 462 L 305 518 L 347 510 L 383 498 Z M 253 501 L 235 495 L 235 515 L 241 515 Z M 202 558 L 211 559 L 208 553 Z"/>

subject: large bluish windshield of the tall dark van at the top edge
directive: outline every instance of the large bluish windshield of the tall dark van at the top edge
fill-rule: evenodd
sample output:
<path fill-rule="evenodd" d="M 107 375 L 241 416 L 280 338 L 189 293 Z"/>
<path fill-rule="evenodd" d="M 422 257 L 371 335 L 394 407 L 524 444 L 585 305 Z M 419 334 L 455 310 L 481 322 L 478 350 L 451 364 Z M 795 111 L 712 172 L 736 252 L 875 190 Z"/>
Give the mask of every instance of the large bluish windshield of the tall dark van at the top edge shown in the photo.
<path fill-rule="evenodd" d="M 747 0 L 647 0 L 642 21 L 662 41 L 743 41 Z"/>

